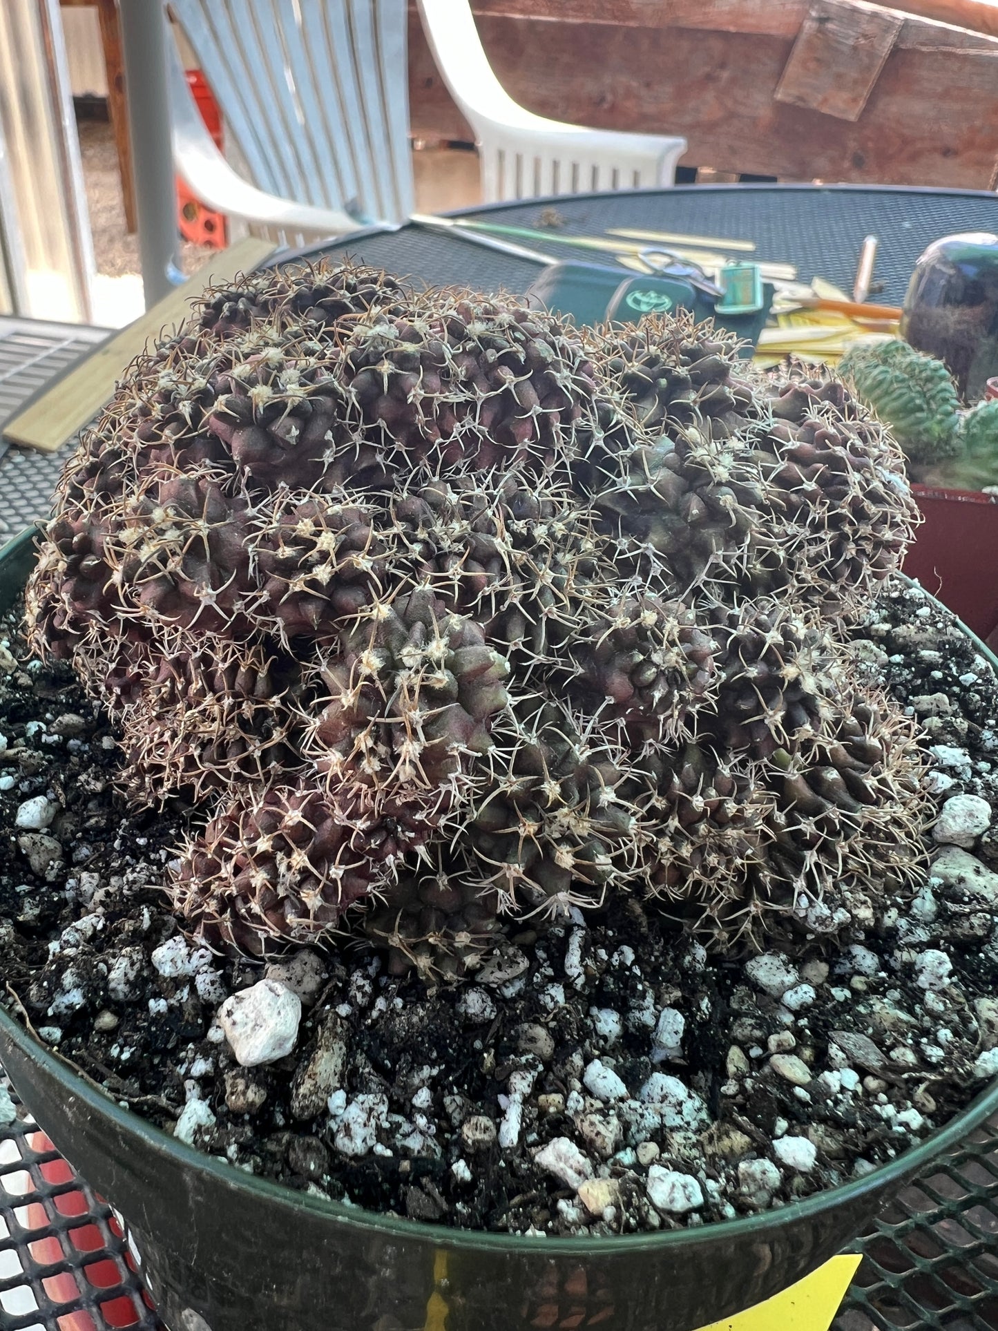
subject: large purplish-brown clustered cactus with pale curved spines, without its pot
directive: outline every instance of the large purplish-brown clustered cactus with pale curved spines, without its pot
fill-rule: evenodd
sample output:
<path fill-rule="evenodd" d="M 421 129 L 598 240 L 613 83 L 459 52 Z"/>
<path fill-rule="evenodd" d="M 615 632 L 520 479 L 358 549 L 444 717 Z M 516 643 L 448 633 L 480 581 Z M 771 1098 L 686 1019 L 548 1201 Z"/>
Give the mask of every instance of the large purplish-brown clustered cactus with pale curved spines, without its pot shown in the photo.
<path fill-rule="evenodd" d="M 193 937 L 474 972 L 611 893 L 707 946 L 923 872 L 914 723 L 844 630 L 915 515 L 837 379 L 355 266 L 209 290 L 61 478 L 33 648 L 204 811 Z"/>

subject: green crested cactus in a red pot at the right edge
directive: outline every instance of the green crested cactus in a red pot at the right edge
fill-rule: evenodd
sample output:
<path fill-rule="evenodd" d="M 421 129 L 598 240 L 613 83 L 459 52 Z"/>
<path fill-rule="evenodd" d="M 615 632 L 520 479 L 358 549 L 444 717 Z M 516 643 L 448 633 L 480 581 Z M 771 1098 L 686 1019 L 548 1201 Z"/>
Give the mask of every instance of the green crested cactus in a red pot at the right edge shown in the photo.
<path fill-rule="evenodd" d="M 897 338 L 849 351 L 840 373 L 894 433 L 923 518 L 906 570 L 990 642 L 998 630 L 998 402 L 965 407 L 942 361 Z"/>

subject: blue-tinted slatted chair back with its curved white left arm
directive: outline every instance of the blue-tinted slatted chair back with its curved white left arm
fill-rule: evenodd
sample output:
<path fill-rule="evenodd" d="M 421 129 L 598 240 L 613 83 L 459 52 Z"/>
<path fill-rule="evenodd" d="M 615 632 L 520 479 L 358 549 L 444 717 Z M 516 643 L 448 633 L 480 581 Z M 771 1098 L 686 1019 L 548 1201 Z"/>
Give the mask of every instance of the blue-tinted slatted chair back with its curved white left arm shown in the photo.
<path fill-rule="evenodd" d="M 170 53 L 177 172 L 209 208 L 295 244 L 413 212 L 406 0 L 169 0 L 225 118 L 226 161 Z"/>

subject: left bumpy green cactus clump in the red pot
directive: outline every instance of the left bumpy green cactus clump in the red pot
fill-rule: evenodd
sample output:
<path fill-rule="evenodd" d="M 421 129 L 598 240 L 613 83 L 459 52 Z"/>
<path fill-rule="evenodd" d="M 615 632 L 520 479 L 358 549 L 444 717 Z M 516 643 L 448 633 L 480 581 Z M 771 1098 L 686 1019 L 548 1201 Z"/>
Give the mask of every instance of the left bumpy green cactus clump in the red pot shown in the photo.
<path fill-rule="evenodd" d="M 909 462 L 933 463 L 962 451 L 959 398 L 942 361 L 892 339 L 853 347 L 838 373 L 890 427 Z"/>

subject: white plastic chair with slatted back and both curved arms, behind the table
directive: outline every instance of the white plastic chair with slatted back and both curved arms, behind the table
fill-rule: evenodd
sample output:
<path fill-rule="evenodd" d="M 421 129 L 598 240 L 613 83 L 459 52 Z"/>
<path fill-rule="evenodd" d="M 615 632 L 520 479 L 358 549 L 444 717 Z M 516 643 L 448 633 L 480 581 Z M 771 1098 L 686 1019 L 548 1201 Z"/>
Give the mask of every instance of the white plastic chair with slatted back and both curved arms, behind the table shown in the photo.
<path fill-rule="evenodd" d="M 205 128 L 170 41 L 174 162 L 206 206 L 285 244 L 409 217 L 406 0 L 169 0 L 169 8 L 249 177 Z M 535 116 L 499 85 L 468 0 L 419 0 L 419 11 L 475 129 L 486 201 L 673 182 L 685 140 Z"/>

